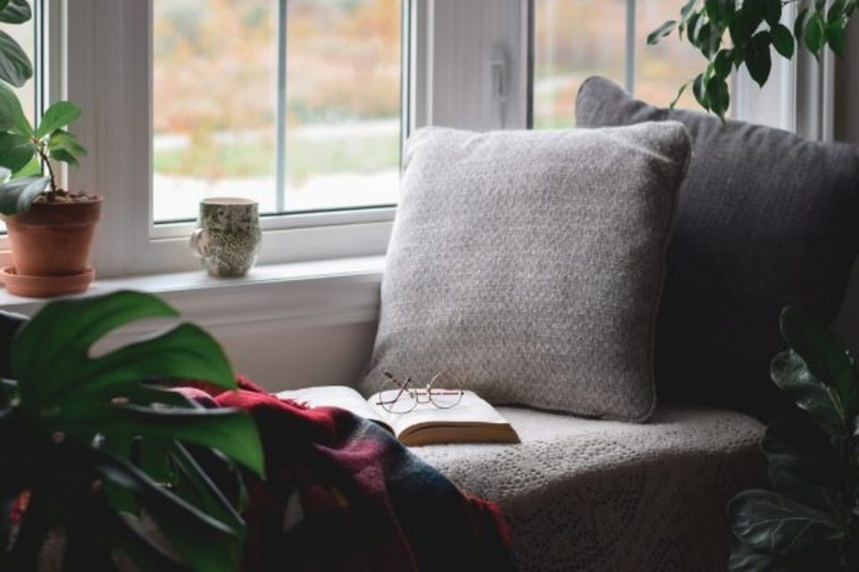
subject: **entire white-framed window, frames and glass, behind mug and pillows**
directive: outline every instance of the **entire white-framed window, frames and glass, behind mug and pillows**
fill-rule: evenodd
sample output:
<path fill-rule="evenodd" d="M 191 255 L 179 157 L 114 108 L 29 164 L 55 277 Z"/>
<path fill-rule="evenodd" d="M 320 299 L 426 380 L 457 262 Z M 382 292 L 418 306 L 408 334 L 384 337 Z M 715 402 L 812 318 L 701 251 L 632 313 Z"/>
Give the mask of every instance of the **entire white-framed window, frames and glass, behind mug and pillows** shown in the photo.
<path fill-rule="evenodd" d="M 259 200 L 260 264 L 382 254 L 405 131 L 571 125 L 592 73 L 668 104 L 702 63 L 645 46 L 676 0 L 44 2 L 52 94 L 90 152 L 69 185 L 105 196 L 103 278 L 197 269 L 210 195 Z"/>

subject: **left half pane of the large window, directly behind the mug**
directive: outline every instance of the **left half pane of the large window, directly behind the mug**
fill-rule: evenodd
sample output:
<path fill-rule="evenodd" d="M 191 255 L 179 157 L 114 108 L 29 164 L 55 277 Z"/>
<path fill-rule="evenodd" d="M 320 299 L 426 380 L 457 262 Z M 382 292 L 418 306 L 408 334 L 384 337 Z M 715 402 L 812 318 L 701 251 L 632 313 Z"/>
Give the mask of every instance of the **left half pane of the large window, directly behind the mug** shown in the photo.
<path fill-rule="evenodd" d="M 276 0 L 155 0 L 154 220 L 207 196 L 275 208 Z"/>

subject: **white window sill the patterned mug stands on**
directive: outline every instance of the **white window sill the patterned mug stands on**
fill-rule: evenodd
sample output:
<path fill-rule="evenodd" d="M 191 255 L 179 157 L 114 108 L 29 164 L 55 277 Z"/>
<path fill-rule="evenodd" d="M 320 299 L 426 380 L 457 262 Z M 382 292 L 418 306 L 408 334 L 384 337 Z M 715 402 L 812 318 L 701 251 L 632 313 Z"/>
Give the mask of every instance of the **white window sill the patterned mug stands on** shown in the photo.
<path fill-rule="evenodd" d="M 131 289 L 163 297 L 203 327 L 288 320 L 290 327 L 374 321 L 384 256 L 259 266 L 245 278 L 203 271 L 96 280 L 93 296 Z M 46 300 L 0 290 L 0 310 L 32 314 Z"/>

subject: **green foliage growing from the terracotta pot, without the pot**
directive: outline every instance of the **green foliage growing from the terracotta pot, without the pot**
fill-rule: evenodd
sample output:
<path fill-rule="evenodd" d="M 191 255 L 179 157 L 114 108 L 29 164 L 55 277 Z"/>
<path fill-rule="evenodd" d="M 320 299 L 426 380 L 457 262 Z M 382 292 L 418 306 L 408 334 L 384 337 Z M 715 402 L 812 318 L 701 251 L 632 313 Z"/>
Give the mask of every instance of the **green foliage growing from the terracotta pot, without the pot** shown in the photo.
<path fill-rule="evenodd" d="M 30 18 L 27 0 L 0 0 L 0 21 L 21 24 Z M 6 215 L 27 211 L 40 196 L 47 202 L 72 197 L 59 187 L 52 161 L 77 167 L 87 154 L 68 130 L 80 117 L 74 104 L 57 102 L 42 114 L 37 128 L 30 125 L 10 86 L 21 87 L 32 76 L 29 56 L 0 30 L 0 213 Z"/>

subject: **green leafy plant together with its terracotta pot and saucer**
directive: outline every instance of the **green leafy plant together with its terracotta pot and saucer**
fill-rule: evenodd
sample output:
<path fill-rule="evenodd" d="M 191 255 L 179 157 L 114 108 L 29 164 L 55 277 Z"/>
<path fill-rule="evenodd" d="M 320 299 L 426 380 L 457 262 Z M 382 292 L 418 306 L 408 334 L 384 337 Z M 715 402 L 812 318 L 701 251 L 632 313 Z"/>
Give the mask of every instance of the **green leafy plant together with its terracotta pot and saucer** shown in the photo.
<path fill-rule="evenodd" d="M 0 0 L 0 21 L 32 17 L 27 0 Z M 80 116 L 69 102 L 51 105 L 34 128 L 9 85 L 32 77 L 21 46 L 0 31 L 0 214 L 12 245 L 12 266 L 0 279 L 13 294 L 48 297 L 85 291 L 102 197 L 60 187 L 52 162 L 77 166 L 87 150 L 68 130 Z M 9 85 L 6 85 L 9 84 Z"/>

